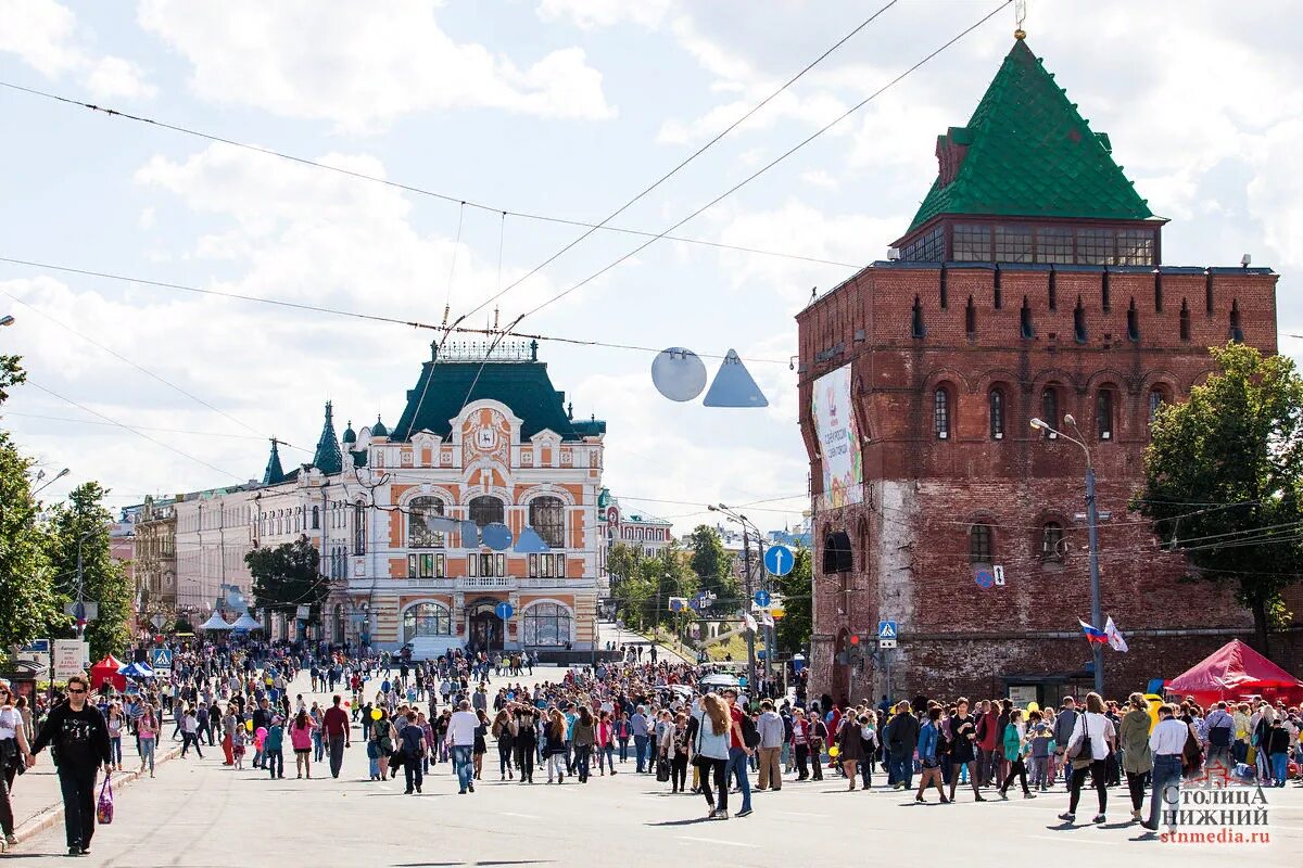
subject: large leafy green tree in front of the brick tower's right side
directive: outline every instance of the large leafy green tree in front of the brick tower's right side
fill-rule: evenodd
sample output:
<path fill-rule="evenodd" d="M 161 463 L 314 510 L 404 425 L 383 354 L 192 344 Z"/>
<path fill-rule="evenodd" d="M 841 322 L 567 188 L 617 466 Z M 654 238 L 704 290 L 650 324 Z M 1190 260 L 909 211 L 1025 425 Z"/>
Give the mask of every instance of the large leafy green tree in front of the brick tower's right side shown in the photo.
<path fill-rule="evenodd" d="M 1303 379 L 1283 355 L 1234 342 L 1210 351 L 1213 375 L 1154 419 L 1132 509 L 1184 552 L 1187 579 L 1234 587 L 1268 653 L 1303 562 Z"/>

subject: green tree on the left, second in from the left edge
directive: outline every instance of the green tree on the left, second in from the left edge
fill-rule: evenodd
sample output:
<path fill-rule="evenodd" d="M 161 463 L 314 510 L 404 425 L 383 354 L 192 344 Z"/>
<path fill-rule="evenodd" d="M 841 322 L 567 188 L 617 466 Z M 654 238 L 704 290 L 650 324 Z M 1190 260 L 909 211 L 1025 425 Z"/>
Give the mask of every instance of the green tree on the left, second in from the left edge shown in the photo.
<path fill-rule="evenodd" d="M 99 606 L 86 625 L 91 660 L 121 655 L 132 640 L 132 582 L 109 553 L 113 517 L 104 495 L 99 483 L 82 483 L 53 506 L 50 518 L 50 562 L 60 595 Z"/>

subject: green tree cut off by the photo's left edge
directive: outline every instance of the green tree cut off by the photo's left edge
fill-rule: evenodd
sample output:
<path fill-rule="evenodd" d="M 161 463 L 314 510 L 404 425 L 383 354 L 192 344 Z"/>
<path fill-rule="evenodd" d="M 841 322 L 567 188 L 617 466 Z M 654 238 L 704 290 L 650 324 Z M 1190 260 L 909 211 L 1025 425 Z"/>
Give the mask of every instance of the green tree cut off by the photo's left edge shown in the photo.
<path fill-rule="evenodd" d="M 4 383 L 0 376 L 0 383 Z M 0 387 L 0 396 L 4 394 Z M 0 431 L 0 657 L 33 639 L 65 636 L 68 617 L 60 610 L 51 576 L 46 536 L 36 523 L 38 502 L 27 471 L 31 459 Z"/>

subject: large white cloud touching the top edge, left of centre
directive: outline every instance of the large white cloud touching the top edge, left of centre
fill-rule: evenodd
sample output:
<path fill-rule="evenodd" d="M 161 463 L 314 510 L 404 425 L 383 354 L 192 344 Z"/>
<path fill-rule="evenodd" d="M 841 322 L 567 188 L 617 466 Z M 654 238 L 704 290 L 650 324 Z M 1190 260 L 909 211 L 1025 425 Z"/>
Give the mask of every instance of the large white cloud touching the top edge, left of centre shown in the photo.
<path fill-rule="evenodd" d="M 554 51 L 521 68 L 483 46 L 455 42 L 434 5 L 418 0 L 142 0 L 139 22 L 192 64 L 199 96 L 348 131 L 429 109 L 615 116 L 582 49 Z"/>

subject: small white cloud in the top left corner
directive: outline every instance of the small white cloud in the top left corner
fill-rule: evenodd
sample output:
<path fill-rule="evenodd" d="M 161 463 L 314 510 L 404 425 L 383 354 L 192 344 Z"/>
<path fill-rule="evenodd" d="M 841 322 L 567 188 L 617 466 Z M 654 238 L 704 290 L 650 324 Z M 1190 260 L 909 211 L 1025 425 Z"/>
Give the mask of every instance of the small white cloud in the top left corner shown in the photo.
<path fill-rule="evenodd" d="M 55 0 L 0 0 L 0 52 L 17 55 L 47 78 L 76 73 L 100 99 L 149 99 L 158 92 L 134 62 L 90 52 L 77 16 Z"/>

